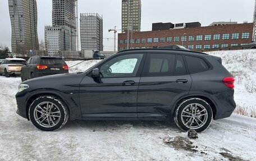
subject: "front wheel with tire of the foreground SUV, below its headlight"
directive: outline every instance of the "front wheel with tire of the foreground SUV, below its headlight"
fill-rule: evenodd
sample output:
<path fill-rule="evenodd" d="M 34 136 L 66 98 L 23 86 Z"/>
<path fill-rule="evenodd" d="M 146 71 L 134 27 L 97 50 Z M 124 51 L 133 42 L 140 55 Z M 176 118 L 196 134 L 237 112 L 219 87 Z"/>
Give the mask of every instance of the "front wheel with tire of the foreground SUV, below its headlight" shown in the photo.
<path fill-rule="evenodd" d="M 29 107 L 29 119 L 40 130 L 58 130 L 68 120 L 66 104 L 52 95 L 40 96 Z"/>

